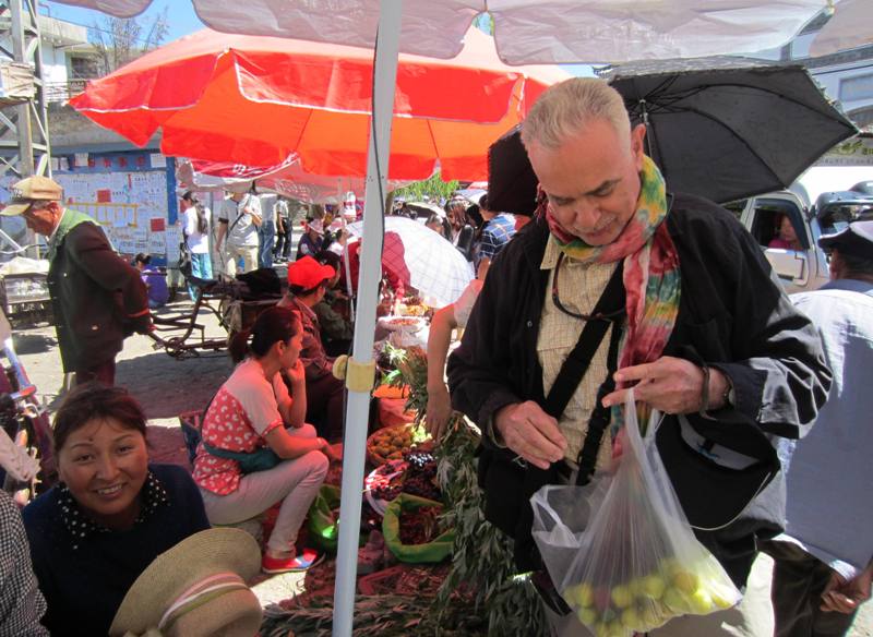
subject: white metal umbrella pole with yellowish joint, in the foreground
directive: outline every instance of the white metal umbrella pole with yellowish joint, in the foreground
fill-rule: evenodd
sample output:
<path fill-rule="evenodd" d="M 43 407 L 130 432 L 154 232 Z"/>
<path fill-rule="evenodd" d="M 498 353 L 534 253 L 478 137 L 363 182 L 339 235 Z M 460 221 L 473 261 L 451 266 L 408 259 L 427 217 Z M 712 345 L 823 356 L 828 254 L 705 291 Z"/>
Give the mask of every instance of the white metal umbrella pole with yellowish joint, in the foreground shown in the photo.
<path fill-rule="evenodd" d="M 374 373 L 373 334 L 379 279 L 382 277 L 382 240 L 384 231 L 384 199 L 388 155 L 391 154 L 391 121 L 394 112 L 394 88 L 397 79 L 397 53 L 400 39 L 402 0 L 381 0 L 379 34 L 373 77 L 373 130 L 367 154 L 367 187 L 363 204 L 363 237 L 361 242 L 358 281 L 358 312 L 355 321 L 352 368 L 366 365 Z M 376 149 L 379 151 L 376 154 Z M 381 176 L 381 180 L 379 178 Z M 335 637 L 350 637 L 355 613 L 355 585 L 358 573 L 358 533 L 361 519 L 363 462 L 367 455 L 367 421 L 370 392 L 349 388 L 346 409 L 346 435 L 343 452 L 343 486 L 339 503 L 339 546 L 336 554 L 336 587 L 334 589 Z"/>

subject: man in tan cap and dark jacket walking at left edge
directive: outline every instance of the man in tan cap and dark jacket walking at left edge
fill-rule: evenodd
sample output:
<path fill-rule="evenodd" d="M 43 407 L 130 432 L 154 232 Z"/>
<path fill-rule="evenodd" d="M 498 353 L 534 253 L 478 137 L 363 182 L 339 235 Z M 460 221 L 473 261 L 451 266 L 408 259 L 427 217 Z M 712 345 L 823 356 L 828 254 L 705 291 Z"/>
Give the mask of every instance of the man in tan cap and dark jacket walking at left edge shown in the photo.
<path fill-rule="evenodd" d="M 115 384 L 116 354 L 125 336 L 148 333 L 152 317 L 140 273 L 112 251 L 100 227 L 62 204 L 63 189 L 34 176 L 12 187 L 0 212 L 21 215 L 48 239 L 48 288 L 65 373 L 75 383 Z"/>

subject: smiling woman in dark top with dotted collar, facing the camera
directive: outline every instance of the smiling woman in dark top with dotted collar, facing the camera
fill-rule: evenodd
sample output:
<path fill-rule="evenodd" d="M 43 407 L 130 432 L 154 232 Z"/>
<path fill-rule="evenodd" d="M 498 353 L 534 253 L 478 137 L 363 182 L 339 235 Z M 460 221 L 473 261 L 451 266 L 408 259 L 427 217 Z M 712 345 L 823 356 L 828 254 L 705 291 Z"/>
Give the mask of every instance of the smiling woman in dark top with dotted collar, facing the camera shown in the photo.
<path fill-rule="evenodd" d="M 120 387 L 73 389 L 55 417 L 61 482 L 22 517 L 55 636 L 106 635 L 152 561 L 210 528 L 181 467 L 150 465 L 145 416 Z"/>

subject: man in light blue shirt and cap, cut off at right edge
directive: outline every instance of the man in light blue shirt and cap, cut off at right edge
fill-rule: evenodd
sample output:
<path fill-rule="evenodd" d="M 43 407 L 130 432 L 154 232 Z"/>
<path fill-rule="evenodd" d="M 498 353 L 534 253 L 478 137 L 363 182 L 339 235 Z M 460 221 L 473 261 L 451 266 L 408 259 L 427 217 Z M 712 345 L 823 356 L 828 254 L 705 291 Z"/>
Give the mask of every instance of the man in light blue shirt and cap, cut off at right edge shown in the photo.
<path fill-rule="evenodd" d="M 777 637 L 845 635 L 873 575 L 873 220 L 818 244 L 830 281 L 792 300 L 822 336 L 834 384 L 810 434 L 781 441 L 787 524 L 767 548 Z"/>

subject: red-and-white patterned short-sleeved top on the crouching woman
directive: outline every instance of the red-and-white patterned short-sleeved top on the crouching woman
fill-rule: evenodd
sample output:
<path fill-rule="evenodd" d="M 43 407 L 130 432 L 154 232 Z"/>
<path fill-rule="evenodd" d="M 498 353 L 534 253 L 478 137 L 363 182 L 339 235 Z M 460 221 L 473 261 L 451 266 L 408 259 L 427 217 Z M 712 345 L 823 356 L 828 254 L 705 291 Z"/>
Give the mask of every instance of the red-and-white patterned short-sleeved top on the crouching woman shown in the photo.
<path fill-rule="evenodd" d="M 282 375 L 277 373 L 271 383 L 258 361 L 246 359 L 210 405 L 201 429 L 203 441 L 214 447 L 247 454 L 265 447 L 266 434 L 285 424 L 278 406 L 286 400 L 290 400 L 290 396 Z M 237 460 L 213 456 L 201 443 L 193 476 L 201 488 L 227 495 L 237 490 L 242 472 Z"/>

